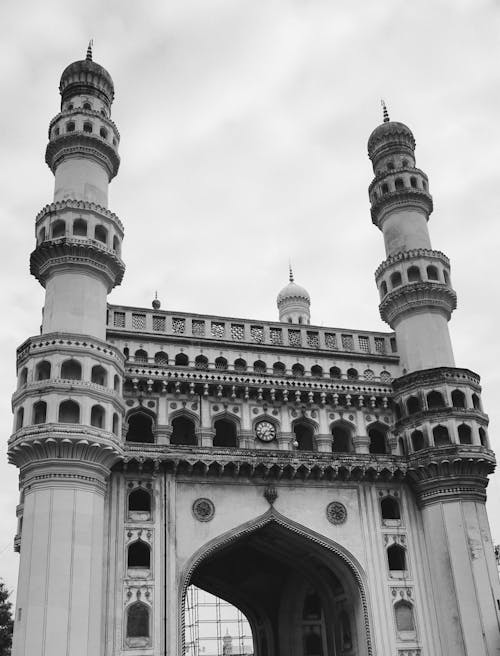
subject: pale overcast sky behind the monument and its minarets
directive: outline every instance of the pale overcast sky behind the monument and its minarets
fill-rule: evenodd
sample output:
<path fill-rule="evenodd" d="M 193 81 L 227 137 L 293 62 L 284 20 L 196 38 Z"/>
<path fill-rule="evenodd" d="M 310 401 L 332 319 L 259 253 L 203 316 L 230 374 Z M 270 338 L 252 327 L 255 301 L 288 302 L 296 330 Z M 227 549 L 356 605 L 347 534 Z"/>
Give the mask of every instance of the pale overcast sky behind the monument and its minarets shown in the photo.
<path fill-rule="evenodd" d="M 127 271 L 110 302 L 277 318 L 291 258 L 312 322 L 389 330 L 374 271 L 366 142 L 391 118 L 413 130 L 429 176 L 432 244 L 452 263 L 457 366 L 482 376 L 498 444 L 500 4 L 497 0 L 45 0 L 0 8 L 0 576 L 16 585 L 17 473 L 6 464 L 15 349 L 37 334 L 29 275 L 58 84 L 82 59 L 115 82 L 122 164 L 109 207 Z M 500 477 L 489 487 L 500 542 Z"/>

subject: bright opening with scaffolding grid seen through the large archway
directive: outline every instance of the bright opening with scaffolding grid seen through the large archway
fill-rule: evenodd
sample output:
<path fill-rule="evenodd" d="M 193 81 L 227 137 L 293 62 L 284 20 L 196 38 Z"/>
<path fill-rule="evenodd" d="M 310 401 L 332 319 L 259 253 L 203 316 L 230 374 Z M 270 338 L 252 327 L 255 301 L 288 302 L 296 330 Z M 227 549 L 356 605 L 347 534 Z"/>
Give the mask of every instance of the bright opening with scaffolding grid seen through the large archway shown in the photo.
<path fill-rule="evenodd" d="M 252 631 L 227 601 L 189 586 L 185 604 L 186 656 L 252 656 Z"/>

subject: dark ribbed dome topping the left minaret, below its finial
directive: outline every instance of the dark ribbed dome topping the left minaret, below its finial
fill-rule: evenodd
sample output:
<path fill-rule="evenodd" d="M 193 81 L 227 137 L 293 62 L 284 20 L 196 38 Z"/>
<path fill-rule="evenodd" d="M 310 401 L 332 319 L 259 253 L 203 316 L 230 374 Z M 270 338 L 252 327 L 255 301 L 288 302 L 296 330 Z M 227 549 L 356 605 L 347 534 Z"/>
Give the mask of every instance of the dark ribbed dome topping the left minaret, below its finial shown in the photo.
<path fill-rule="evenodd" d="M 111 105 L 115 97 L 111 75 L 100 64 L 88 58 L 66 66 L 61 75 L 59 91 L 63 102 L 76 94 L 90 94 Z"/>

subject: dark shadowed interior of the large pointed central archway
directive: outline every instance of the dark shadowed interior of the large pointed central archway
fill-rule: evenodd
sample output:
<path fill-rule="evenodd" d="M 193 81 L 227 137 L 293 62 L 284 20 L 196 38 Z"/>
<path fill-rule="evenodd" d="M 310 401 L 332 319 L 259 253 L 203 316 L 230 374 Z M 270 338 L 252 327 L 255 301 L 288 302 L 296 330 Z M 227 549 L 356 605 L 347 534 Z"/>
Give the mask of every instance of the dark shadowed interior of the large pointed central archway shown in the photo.
<path fill-rule="evenodd" d="M 246 615 L 255 656 L 372 655 L 361 566 L 274 508 L 204 545 L 181 581 L 181 609 L 194 584 Z"/>

